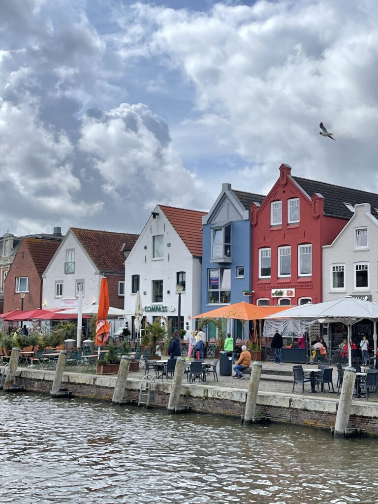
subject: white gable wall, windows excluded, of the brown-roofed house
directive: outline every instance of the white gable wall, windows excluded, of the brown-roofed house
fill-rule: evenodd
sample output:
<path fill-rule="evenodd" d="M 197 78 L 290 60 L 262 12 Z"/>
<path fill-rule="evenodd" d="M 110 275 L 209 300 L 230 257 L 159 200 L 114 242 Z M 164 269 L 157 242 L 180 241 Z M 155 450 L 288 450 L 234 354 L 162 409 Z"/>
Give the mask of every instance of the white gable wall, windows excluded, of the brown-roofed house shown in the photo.
<path fill-rule="evenodd" d="M 66 250 L 68 249 L 75 250 L 75 273 L 72 274 L 65 274 Z M 98 302 L 99 271 L 71 230 L 62 240 L 42 278 L 42 303 L 46 305 L 46 308 L 61 308 L 64 307 L 63 300 L 76 300 L 76 280 L 84 280 L 83 306 Z M 55 297 L 55 282 L 58 281 L 63 282 L 63 296 L 61 298 Z"/>

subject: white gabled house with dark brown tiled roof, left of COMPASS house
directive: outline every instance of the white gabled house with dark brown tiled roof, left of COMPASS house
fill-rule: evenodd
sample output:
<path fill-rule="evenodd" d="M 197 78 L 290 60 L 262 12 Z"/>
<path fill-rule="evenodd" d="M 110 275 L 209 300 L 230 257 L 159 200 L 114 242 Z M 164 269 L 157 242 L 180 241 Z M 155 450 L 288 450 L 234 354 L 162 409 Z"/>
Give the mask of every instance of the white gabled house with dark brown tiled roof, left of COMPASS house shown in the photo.
<path fill-rule="evenodd" d="M 77 306 L 80 284 L 83 305 L 97 303 L 105 275 L 110 305 L 123 308 L 124 260 L 137 238 L 137 234 L 70 228 L 42 275 L 43 307 Z"/>

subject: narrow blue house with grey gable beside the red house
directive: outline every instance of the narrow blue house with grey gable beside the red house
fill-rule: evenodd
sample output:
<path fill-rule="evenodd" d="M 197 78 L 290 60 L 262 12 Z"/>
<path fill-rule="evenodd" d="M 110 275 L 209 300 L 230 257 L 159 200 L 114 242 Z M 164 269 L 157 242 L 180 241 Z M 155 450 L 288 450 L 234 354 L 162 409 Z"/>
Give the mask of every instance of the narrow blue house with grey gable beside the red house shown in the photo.
<path fill-rule="evenodd" d="M 209 213 L 202 217 L 202 313 L 225 304 L 249 301 L 243 291 L 251 289 L 251 229 L 249 208 L 265 196 L 236 191 L 223 183 L 222 192 Z M 227 328 L 234 338 L 242 335 L 238 321 Z M 216 337 L 210 324 L 208 338 Z"/>

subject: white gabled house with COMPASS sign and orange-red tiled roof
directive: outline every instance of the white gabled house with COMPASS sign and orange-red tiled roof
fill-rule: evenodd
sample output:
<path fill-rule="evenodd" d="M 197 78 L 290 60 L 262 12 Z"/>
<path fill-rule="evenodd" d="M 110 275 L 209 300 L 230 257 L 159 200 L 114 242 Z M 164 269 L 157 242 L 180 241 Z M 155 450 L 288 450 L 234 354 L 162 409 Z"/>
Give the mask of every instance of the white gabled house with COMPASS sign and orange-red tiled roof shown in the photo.
<path fill-rule="evenodd" d="M 201 311 L 202 216 L 204 212 L 156 206 L 125 261 L 124 309 L 135 311 L 141 293 L 148 322 L 165 317 L 178 328 L 178 294 L 181 294 L 181 329 L 195 329 L 190 318 Z M 129 328 L 134 335 L 134 320 Z"/>

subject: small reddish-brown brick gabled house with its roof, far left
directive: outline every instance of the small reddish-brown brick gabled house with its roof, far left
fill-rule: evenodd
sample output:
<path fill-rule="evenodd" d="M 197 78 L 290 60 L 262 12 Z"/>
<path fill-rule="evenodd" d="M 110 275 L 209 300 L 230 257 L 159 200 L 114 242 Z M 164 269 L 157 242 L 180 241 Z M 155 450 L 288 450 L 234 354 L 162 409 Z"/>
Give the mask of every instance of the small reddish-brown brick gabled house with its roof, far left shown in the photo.
<path fill-rule="evenodd" d="M 22 238 L 5 281 L 4 311 L 21 308 L 20 292 L 25 292 L 25 310 L 42 306 L 42 274 L 61 239 Z"/>

